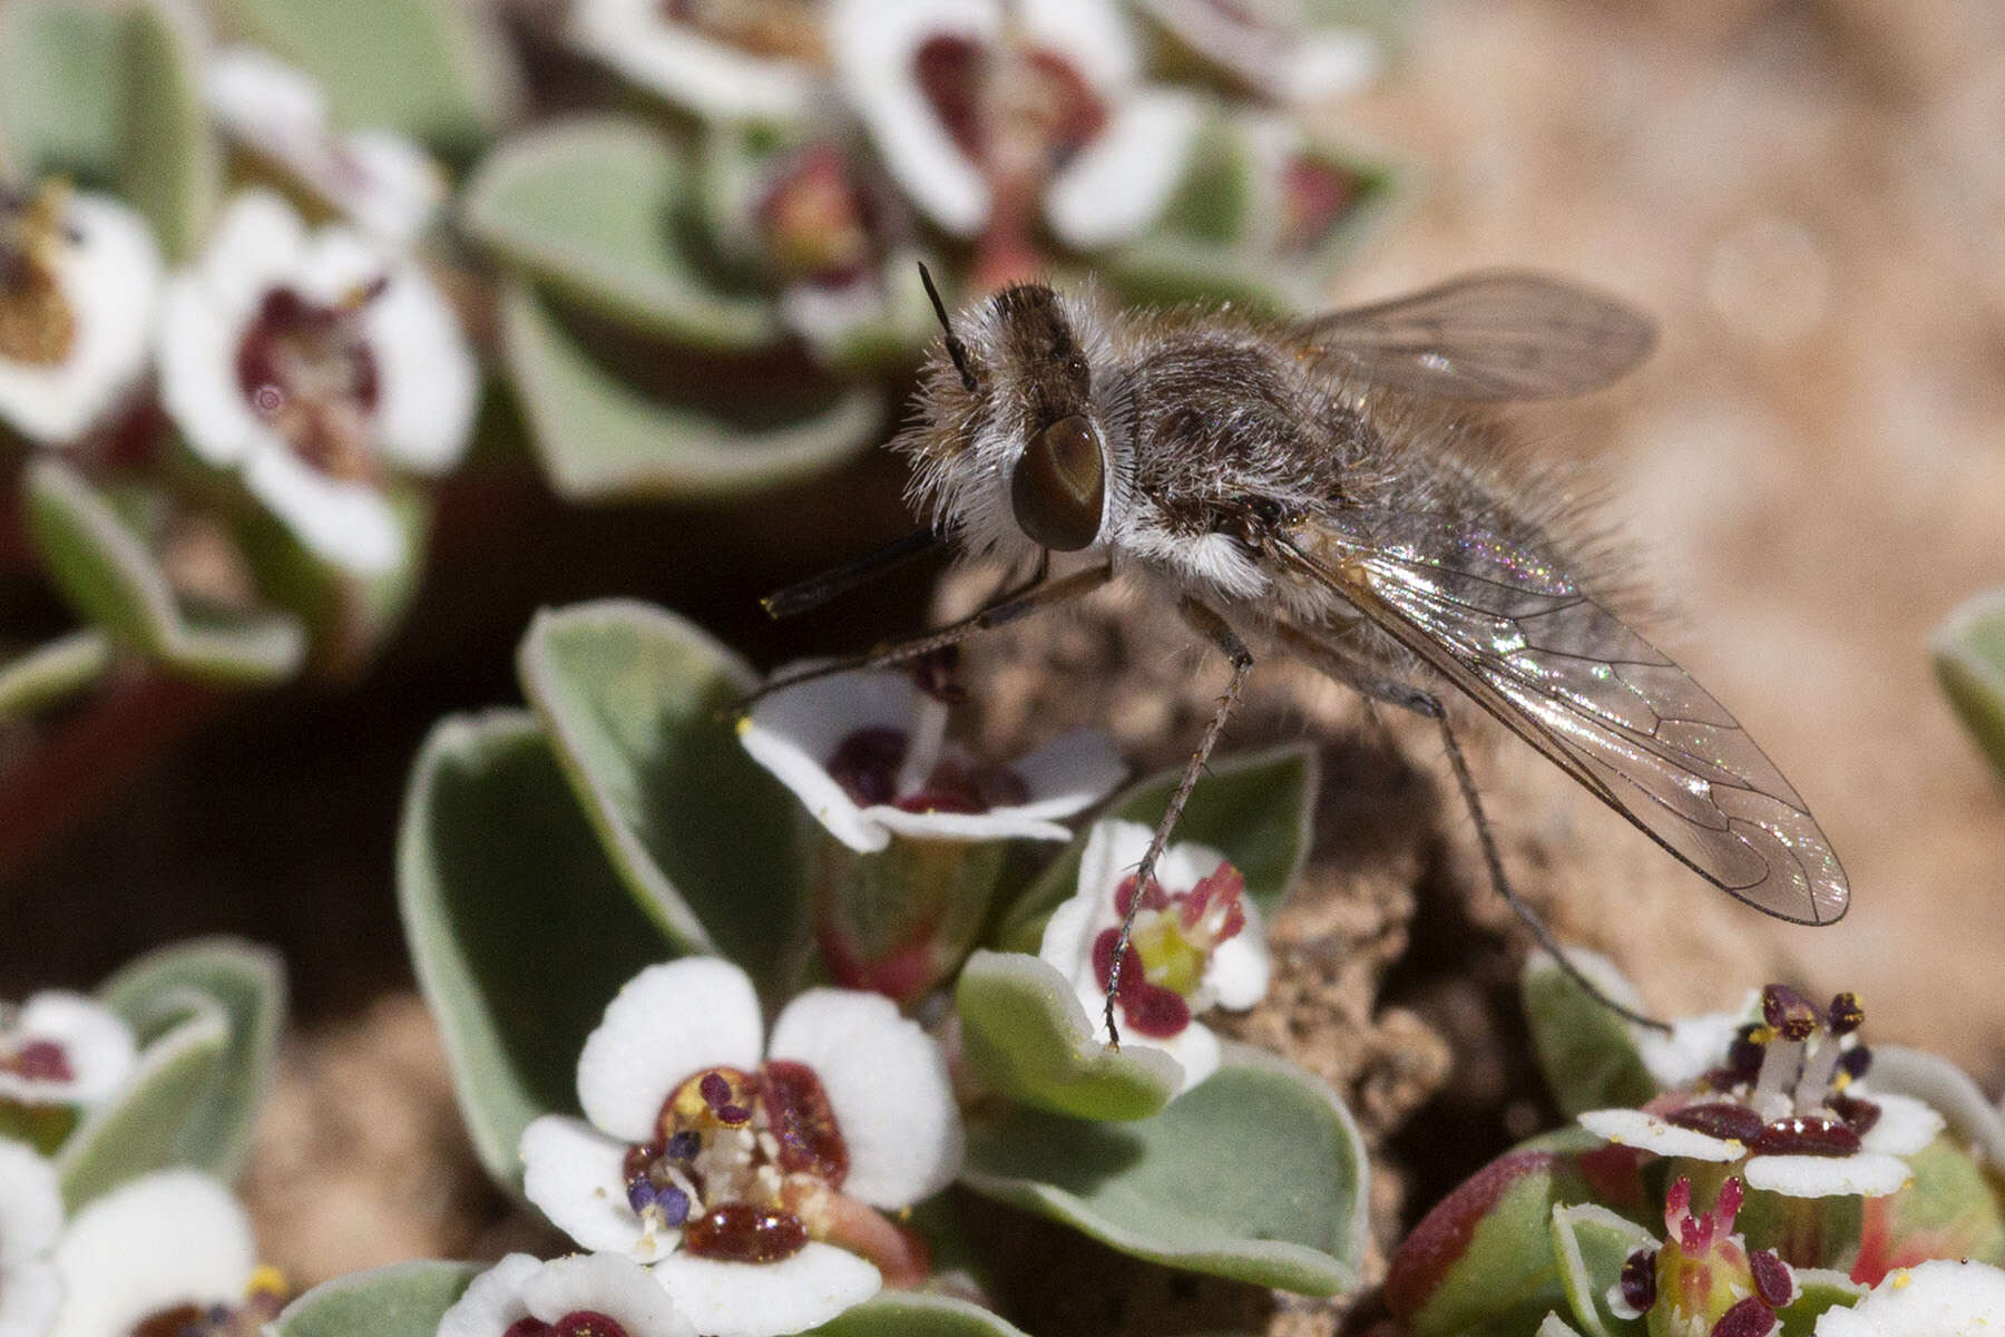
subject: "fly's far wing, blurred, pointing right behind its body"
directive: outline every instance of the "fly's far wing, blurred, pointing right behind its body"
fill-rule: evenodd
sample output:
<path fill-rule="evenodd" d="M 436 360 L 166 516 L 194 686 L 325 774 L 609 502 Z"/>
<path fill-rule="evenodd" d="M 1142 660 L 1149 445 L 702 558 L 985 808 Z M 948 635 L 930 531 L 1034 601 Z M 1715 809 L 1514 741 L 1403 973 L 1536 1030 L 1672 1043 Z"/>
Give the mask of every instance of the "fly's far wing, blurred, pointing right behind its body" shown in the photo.
<path fill-rule="evenodd" d="M 1307 357 L 1438 399 L 1566 399 L 1650 355 L 1656 329 L 1630 307 L 1546 275 L 1492 271 L 1410 297 L 1333 311 L 1293 331 Z"/>

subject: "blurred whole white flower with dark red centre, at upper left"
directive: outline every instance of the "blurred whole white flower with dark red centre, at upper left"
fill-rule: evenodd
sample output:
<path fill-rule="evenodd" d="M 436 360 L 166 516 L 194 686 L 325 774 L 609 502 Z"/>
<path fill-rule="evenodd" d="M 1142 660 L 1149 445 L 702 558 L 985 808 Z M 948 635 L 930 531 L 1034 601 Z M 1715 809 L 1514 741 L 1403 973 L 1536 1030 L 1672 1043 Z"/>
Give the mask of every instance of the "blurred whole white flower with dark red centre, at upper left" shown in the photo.
<path fill-rule="evenodd" d="M 239 194 L 200 265 L 166 289 L 160 399 L 188 445 L 321 559 L 361 575 L 405 553 L 379 483 L 467 449 L 473 353 L 409 259 L 345 227 L 307 233 L 269 190 Z"/>

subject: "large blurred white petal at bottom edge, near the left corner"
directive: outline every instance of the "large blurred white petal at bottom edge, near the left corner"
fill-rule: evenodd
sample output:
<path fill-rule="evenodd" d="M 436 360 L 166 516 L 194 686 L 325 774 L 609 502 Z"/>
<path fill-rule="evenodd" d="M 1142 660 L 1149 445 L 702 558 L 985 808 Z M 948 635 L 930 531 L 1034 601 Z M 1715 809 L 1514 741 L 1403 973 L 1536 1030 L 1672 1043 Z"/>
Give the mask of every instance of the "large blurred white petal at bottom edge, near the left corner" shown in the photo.
<path fill-rule="evenodd" d="M 112 1189 L 56 1245 L 62 1319 L 52 1337 L 126 1337 L 174 1305 L 235 1305 L 257 1269 L 251 1219 L 196 1171 L 160 1171 Z"/>

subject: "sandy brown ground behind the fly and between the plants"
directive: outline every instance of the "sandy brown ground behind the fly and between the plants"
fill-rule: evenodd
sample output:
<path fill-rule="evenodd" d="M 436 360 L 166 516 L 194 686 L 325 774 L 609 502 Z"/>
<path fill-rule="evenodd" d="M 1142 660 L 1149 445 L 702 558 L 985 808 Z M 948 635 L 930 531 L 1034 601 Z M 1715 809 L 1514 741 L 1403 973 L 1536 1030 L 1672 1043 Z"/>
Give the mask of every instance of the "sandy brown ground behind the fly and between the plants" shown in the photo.
<path fill-rule="evenodd" d="M 1678 607 L 1656 637 L 1811 800 L 1855 910 L 1827 930 L 1742 910 L 1492 740 L 1478 770 L 1526 890 L 1660 1010 L 1718 1006 L 1782 970 L 1861 990 L 1879 1036 L 1949 1052 L 1995 1088 L 2005 800 L 1925 641 L 2005 579 L 2005 8 L 1434 4 L 1343 124 L 1426 164 L 1343 297 L 1508 263 L 1660 317 L 1642 375 L 1526 427 L 1594 461 L 1606 515 Z M 1193 674 L 1165 619 L 1055 625 L 976 657 L 990 744 L 1055 714 L 1109 720 L 1143 760 L 1195 738 L 1223 674 Z M 1444 1080 L 1438 1141 L 1480 1125 L 1480 1145 L 1498 1121 L 1528 1133 L 1538 1106 L 1496 1006 L 1516 938 L 1436 802 L 1428 738 L 1385 728 L 1281 670 L 1235 742 L 1331 740 L 1287 984 L 1247 1028 L 1329 1074 L 1391 1149 L 1389 1231 L 1426 1133 L 1401 1151 L 1395 1129 Z M 1462 976 L 1488 992 L 1458 992 Z M 249 1193 L 267 1251 L 303 1281 L 535 1239 L 473 1171 L 409 998 L 291 1046 Z"/>

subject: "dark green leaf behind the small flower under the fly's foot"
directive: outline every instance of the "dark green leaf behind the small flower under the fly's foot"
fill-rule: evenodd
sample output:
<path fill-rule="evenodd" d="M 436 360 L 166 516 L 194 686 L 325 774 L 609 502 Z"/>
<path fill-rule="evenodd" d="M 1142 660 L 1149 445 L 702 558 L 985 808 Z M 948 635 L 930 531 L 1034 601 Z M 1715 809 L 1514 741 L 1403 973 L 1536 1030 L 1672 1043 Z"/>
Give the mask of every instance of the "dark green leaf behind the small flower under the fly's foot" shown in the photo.
<path fill-rule="evenodd" d="M 1097 820 L 1123 818 L 1153 828 L 1163 820 L 1181 776 L 1179 766 L 1129 786 L 1107 802 Z M 1305 744 L 1219 758 L 1191 790 L 1171 844 L 1193 842 L 1221 852 L 1245 876 L 1247 896 L 1273 922 L 1281 896 L 1309 858 L 1315 786 L 1315 752 Z M 1037 952 L 1045 920 L 1079 892 L 1079 860 L 1091 836 L 1091 824 L 1083 826 L 1017 898 L 998 932 L 1005 948 Z"/>

